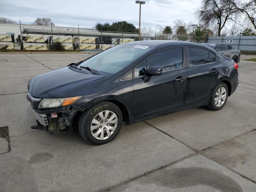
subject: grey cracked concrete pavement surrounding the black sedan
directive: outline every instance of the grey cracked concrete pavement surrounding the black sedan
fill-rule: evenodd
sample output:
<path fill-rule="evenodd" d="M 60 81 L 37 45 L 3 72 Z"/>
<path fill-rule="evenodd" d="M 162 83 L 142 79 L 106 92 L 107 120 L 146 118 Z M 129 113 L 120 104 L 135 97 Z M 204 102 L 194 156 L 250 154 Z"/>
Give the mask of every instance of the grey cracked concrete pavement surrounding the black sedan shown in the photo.
<path fill-rule="evenodd" d="M 1 192 L 256 191 L 256 62 L 241 60 L 240 84 L 218 112 L 200 107 L 123 126 L 102 146 L 77 131 L 30 129 L 28 80 L 88 56 L 0 54 Z"/>

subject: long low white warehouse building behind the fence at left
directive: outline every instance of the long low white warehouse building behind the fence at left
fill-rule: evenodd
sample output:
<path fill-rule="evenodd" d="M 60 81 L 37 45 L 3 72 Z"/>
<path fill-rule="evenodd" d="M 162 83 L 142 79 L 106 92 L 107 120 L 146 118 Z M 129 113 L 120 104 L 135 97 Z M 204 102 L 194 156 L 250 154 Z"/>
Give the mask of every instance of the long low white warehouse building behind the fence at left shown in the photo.
<path fill-rule="evenodd" d="M 120 32 L 99 32 L 90 28 L 58 27 L 58 26 L 38 26 L 29 24 L 6 24 L 0 23 L 0 35 L 2 40 L 0 44 L 6 44 L 12 48 L 11 42 L 18 44 L 22 31 L 22 40 L 26 50 L 47 50 L 46 45 L 53 41 L 61 41 L 64 47 L 70 49 L 97 49 L 99 45 L 102 49 L 112 45 L 122 44 L 138 39 L 138 34 L 120 33 Z M 8 42 L 5 41 L 8 38 Z M 154 38 L 148 35 L 141 35 L 141 38 Z M 79 41 L 78 41 L 79 39 Z M 95 44 L 95 45 L 91 45 Z"/>

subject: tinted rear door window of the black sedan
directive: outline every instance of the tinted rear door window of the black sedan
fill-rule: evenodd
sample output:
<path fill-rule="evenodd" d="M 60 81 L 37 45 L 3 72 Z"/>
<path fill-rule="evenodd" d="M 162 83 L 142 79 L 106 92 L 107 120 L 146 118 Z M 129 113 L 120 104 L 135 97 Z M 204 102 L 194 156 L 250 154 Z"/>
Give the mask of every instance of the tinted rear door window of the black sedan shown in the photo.
<path fill-rule="evenodd" d="M 188 57 L 189 57 L 189 66 L 196 66 L 196 65 L 210 63 L 209 52 L 205 49 L 189 47 Z"/>

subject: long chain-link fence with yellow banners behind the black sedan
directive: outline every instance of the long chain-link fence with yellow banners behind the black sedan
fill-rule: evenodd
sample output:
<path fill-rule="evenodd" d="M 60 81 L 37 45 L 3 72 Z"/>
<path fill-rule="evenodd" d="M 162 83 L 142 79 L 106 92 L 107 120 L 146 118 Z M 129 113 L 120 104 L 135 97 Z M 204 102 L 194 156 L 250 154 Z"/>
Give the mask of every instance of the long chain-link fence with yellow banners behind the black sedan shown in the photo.
<path fill-rule="evenodd" d="M 8 33 L 1 30 L 7 28 Z M 6 30 L 6 31 L 7 31 Z M 2 38 L 1 38 L 2 37 Z M 102 51 L 139 40 L 138 31 L 112 32 L 78 27 L 0 24 L 0 49 L 27 51 Z M 205 42 L 204 37 L 141 33 L 141 40 Z M 1 46 L 2 45 L 2 46 Z"/>

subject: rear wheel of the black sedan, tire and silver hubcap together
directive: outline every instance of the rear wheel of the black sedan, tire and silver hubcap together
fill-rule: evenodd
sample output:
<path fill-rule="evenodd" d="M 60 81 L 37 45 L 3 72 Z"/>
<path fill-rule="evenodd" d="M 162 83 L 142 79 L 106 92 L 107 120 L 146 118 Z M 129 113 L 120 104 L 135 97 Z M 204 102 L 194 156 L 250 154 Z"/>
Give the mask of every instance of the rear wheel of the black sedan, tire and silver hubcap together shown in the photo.
<path fill-rule="evenodd" d="M 224 92 L 222 92 L 222 90 L 224 90 L 223 88 L 226 91 L 225 98 L 224 98 L 225 94 Z M 223 93 L 223 94 L 218 94 L 218 93 Z M 211 93 L 210 101 L 207 105 L 207 108 L 213 111 L 220 110 L 224 107 L 227 100 L 228 100 L 228 86 L 225 83 L 221 82 L 214 88 L 213 92 Z"/>

